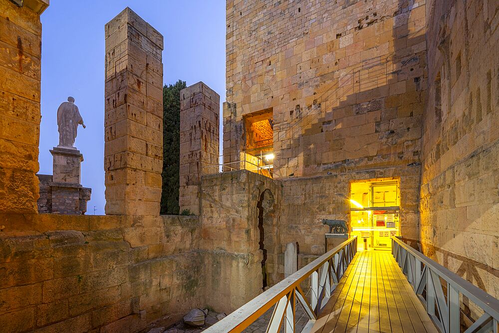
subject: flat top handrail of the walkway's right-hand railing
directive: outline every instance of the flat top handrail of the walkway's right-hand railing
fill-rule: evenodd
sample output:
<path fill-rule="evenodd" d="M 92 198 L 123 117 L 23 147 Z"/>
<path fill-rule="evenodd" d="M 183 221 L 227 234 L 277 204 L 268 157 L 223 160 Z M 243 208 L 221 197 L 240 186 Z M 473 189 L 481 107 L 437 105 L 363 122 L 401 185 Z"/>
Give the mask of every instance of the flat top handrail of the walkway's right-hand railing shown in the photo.
<path fill-rule="evenodd" d="M 423 264 L 431 267 L 431 269 L 438 273 L 444 280 L 453 284 L 453 287 L 458 289 L 463 295 L 469 298 L 473 303 L 486 311 L 489 315 L 499 320 L 499 300 L 494 298 L 492 295 L 487 294 L 482 289 L 478 288 L 471 282 L 463 279 L 457 274 L 449 271 L 444 266 L 433 261 L 427 256 L 423 255 L 421 252 L 410 247 L 406 243 L 400 240 L 400 236 L 392 237 L 397 244 L 403 247 L 405 250 L 410 252 L 413 256 L 417 257 Z"/>

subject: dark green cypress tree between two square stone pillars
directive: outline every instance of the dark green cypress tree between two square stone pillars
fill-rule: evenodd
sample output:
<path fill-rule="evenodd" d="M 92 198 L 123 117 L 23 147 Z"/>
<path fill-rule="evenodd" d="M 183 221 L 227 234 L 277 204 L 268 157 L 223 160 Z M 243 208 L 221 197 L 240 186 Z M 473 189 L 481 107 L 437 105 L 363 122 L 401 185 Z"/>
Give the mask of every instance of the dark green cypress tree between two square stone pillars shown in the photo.
<path fill-rule="evenodd" d="M 186 82 L 163 87 L 163 186 L 161 214 L 179 214 L 180 90 Z"/>

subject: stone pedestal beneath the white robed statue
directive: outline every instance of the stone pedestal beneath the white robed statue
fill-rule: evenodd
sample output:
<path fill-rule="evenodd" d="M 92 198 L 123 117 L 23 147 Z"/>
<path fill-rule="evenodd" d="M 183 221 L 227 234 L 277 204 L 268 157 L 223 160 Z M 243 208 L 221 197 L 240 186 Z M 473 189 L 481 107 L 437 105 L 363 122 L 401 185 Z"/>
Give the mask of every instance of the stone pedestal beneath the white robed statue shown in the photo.
<path fill-rule="evenodd" d="M 54 147 L 52 181 L 52 213 L 81 215 L 86 212 L 91 189 L 80 184 L 83 155 L 76 148 Z"/>

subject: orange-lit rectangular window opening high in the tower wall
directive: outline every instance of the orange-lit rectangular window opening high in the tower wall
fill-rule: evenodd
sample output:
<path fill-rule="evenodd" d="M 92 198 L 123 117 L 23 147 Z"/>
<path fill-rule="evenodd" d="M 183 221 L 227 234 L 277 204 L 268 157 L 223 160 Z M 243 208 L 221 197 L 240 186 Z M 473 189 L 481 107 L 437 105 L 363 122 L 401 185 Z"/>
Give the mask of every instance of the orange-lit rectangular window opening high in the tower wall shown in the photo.
<path fill-rule="evenodd" d="M 272 177 L 273 172 L 273 115 L 272 108 L 250 113 L 244 117 L 246 141 L 241 153 L 242 168 Z"/>

